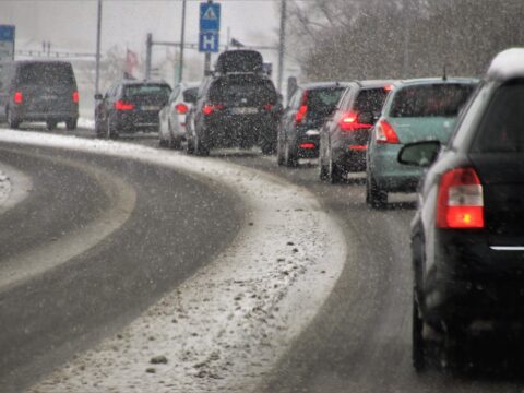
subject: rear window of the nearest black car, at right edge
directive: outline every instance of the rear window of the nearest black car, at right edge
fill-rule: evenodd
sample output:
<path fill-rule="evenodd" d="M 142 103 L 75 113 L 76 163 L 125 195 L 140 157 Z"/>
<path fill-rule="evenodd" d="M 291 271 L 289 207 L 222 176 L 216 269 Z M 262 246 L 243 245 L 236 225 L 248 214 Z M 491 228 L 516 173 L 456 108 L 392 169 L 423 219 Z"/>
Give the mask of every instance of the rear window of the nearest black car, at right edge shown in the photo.
<path fill-rule="evenodd" d="M 473 151 L 524 152 L 524 80 L 505 84 L 493 95 L 478 128 Z"/>

